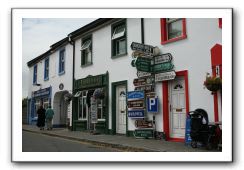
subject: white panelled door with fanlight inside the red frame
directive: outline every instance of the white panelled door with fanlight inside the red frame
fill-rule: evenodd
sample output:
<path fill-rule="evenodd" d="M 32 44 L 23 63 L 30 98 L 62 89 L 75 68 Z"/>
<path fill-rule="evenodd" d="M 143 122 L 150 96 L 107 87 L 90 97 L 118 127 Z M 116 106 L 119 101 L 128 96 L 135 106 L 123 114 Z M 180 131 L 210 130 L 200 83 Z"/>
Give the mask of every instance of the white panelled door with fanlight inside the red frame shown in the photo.
<path fill-rule="evenodd" d="M 169 83 L 170 138 L 185 137 L 186 95 L 185 80 L 179 76 Z"/>

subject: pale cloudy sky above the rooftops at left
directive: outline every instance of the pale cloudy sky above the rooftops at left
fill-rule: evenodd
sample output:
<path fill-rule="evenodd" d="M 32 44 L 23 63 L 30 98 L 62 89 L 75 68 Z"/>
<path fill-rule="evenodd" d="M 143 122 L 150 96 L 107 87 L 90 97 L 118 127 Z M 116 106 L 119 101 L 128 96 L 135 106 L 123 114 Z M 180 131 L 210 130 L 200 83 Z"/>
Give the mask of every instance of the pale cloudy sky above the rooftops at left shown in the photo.
<path fill-rule="evenodd" d="M 22 20 L 22 97 L 28 95 L 27 62 L 49 50 L 50 45 L 94 21 L 93 18 L 24 18 Z"/>

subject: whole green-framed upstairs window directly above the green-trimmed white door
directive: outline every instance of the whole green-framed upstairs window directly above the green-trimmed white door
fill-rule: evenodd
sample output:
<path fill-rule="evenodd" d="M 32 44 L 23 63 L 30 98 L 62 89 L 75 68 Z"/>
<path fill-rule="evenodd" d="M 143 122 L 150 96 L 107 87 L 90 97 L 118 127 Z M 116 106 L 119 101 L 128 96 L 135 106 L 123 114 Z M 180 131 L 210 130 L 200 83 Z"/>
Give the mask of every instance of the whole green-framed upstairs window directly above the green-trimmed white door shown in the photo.
<path fill-rule="evenodd" d="M 112 25 L 111 41 L 112 41 L 112 57 L 125 55 L 127 53 L 125 20 Z"/>

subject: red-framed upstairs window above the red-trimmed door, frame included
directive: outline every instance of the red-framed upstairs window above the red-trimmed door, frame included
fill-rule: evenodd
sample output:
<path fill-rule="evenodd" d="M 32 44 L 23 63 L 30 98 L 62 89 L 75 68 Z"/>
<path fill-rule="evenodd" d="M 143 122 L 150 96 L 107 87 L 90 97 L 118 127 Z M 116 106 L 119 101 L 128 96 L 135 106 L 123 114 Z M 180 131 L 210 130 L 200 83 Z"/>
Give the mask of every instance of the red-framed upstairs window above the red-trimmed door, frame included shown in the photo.
<path fill-rule="evenodd" d="M 185 39 L 185 18 L 161 18 L 161 44 Z"/>

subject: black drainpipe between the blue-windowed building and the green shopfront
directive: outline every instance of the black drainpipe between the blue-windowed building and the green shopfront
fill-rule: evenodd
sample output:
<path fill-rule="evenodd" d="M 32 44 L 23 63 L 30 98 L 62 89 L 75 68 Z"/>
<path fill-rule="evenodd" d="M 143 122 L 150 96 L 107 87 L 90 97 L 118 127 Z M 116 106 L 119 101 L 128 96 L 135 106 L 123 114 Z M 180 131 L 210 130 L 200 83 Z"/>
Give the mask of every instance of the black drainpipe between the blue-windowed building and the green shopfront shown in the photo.
<path fill-rule="evenodd" d="M 72 62 L 72 65 L 73 65 L 73 69 L 72 69 L 72 93 L 74 91 L 74 81 L 75 81 L 75 42 L 71 39 L 71 34 L 68 35 L 68 41 L 69 43 L 73 46 L 73 62 Z M 74 131 L 74 115 L 73 115 L 73 112 L 74 112 L 74 100 L 72 100 L 72 131 Z"/>

